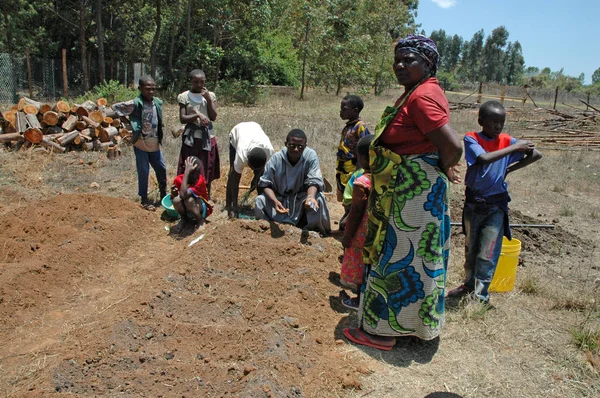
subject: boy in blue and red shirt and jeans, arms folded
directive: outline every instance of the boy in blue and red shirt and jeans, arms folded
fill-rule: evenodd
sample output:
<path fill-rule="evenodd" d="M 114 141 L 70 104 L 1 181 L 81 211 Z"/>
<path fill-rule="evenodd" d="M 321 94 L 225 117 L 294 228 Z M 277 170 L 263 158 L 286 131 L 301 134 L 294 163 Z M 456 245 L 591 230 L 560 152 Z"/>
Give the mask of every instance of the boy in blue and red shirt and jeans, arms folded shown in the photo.
<path fill-rule="evenodd" d="M 502 133 L 506 111 L 498 101 L 479 108 L 481 132 L 465 135 L 466 198 L 463 208 L 465 280 L 447 297 L 473 294 L 489 302 L 488 288 L 502 250 L 502 237 L 511 239 L 508 223 L 508 173 L 542 158 L 533 143 Z"/>

